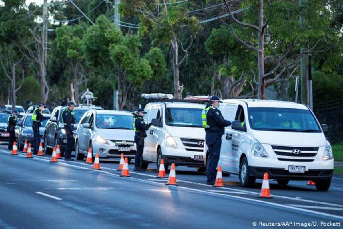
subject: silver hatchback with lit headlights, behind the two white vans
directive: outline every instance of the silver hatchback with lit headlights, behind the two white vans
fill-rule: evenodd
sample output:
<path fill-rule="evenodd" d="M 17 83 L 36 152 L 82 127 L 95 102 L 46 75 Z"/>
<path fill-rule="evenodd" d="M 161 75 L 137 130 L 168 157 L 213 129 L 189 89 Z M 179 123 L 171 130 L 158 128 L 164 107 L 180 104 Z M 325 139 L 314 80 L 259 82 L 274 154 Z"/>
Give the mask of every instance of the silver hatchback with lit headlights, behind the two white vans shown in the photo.
<path fill-rule="evenodd" d="M 90 110 L 76 129 L 76 159 L 83 160 L 92 148 L 93 158 L 120 158 L 121 153 L 129 161 L 135 157 L 133 115 L 123 111 Z"/>

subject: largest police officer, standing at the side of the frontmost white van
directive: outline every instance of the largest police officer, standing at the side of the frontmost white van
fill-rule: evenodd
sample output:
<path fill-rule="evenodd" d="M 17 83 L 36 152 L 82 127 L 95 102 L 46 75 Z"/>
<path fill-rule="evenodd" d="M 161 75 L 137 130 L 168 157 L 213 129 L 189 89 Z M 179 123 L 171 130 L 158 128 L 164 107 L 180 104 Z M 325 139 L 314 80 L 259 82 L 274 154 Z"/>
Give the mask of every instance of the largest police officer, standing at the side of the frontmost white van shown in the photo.
<path fill-rule="evenodd" d="M 220 110 L 218 110 L 219 103 L 222 103 L 222 101 L 217 96 L 212 96 L 210 103 L 204 108 L 201 114 L 202 126 L 205 128 L 205 142 L 208 146 L 206 153 L 206 175 L 207 184 L 209 185 L 213 185 L 215 182 L 224 127 L 231 125 L 231 122 L 225 120 Z"/>

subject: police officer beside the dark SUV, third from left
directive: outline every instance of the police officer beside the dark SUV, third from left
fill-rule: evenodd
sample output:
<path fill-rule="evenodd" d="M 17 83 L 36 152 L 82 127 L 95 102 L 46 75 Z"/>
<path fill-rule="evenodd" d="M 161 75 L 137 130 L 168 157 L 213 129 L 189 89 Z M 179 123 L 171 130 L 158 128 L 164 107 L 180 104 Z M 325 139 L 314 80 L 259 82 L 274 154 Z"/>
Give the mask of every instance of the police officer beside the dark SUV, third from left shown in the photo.
<path fill-rule="evenodd" d="M 64 152 L 64 160 L 66 161 L 73 161 L 74 159 L 71 158 L 71 151 L 73 150 L 74 146 L 74 125 L 75 124 L 75 117 L 73 114 L 73 110 L 76 104 L 74 102 L 69 102 L 68 107 L 62 111 L 62 122 L 64 124 L 64 130 L 66 130 L 67 134 L 67 145 L 66 151 Z"/>

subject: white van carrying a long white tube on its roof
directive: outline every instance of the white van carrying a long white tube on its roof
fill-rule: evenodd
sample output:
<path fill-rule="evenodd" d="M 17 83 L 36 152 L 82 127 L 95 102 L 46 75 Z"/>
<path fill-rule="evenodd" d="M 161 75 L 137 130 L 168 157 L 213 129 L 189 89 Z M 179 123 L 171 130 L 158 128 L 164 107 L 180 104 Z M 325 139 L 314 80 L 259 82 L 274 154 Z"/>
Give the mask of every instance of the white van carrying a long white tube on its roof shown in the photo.
<path fill-rule="evenodd" d="M 152 123 L 146 131 L 142 168 L 149 163 L 156 163 L 157 170 L 164 159 L 165 169 L 171 163 L 196 167 L 205 172 L 203 148 L 205 131 L 202 127 L 201 112 L 205 107 L 202 102 L 189 100 L 171 100 L 166 94 L 144 94 L 148 101 L 144 110 L 145 121 Z"/>

